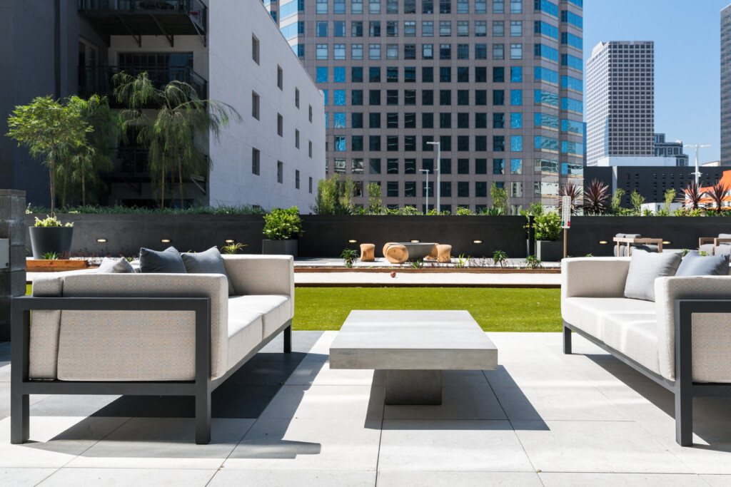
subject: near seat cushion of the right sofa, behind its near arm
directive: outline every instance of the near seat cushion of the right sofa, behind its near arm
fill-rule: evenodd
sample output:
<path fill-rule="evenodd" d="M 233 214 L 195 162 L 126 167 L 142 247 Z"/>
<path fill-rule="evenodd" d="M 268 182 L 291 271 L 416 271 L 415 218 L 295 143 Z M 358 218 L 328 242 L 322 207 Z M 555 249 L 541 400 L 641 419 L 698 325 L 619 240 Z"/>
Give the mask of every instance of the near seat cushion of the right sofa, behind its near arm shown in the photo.
<path fill-rule="evenodd" d="M 605 315 L 603 341 L 653 372 L 660 373 L 657 320 L 654 313 Z"/>

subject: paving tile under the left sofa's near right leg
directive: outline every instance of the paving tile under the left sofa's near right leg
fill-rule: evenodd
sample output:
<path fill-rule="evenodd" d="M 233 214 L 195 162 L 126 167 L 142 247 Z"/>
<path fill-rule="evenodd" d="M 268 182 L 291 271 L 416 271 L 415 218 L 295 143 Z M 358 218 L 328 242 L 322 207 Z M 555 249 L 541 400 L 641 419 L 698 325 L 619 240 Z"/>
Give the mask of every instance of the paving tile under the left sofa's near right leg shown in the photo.
<path fill-rule="evenodd" d="M 132 418 L 67 467 L 217 469 L 253 419 L 213 419 L 211 442 L 195 444 L 192 418 Z"/>

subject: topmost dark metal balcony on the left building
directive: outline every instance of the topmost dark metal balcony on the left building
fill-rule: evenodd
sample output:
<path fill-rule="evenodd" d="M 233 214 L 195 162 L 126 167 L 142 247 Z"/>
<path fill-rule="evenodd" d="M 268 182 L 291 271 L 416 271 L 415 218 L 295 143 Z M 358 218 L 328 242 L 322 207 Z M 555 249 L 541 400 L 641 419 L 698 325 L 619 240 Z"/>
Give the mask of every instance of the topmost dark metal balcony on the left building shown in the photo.
<path fill-rule="evenodd" d="M 208 7 L 202 0 L 78 0 L 78 10 L 100 35 L 199 35 L 206 42 Z"/>

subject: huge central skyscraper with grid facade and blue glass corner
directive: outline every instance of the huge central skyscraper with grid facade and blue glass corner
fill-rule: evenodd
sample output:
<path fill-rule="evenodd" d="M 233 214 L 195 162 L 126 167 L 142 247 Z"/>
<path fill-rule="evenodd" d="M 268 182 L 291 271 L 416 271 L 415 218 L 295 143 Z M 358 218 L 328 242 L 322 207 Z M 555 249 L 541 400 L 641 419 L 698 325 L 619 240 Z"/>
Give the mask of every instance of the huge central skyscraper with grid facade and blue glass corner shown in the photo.
<path fill-rule="evenodd" d="M 493 182 L 515 207 L 582 185 L 582 0 L 263 1 L 325 92 L 327 174 L 356 204 L 376 182 L 422 210 L 422 170 L 452 212 L 490 206 Z"/>

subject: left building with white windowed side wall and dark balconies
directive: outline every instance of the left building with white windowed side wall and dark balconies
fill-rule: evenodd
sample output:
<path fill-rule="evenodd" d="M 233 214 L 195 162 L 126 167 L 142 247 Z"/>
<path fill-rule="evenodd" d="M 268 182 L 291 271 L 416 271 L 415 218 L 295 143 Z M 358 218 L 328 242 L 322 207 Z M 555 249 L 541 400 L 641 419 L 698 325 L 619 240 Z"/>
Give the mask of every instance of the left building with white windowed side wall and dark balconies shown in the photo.
<path fill-rule="evenodd" d="M 121 70 L 148 72 L 158 86 L 186 81 L 243 116 L 219 141 L 202 137 L 211 171 L 184 181 L 186 204 L 297 205 L 306 212 L 325 176 L 322 93 L 260 3 L 211 3 L 0 0 L 0 26 L 13 39 L 0 51 L 0 65 L 13 68 L 0 81 L 0 110 L 48 94 L 111 96 L 111 77 Z M 131 140 L 104 176 L 102 203 L 156 202 L 145 147 Z M 1 187 L 49 203 L 48 172 L 8 137 L 0 137 L 0 167 Z"/>

